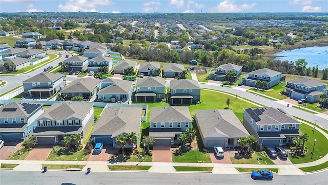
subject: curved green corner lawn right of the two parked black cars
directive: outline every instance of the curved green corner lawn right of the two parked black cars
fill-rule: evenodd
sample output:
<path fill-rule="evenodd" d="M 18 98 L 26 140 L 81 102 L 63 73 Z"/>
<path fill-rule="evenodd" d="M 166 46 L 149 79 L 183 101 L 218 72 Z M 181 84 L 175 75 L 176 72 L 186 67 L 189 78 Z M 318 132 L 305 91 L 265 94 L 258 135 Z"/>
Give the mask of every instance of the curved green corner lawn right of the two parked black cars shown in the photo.
<path fill-rule="evenodd" d="M 327 138 L 318 131 L 315 131 L 313 134 L 313 126 L 309 126 L 306 124 L 300 125 L 300 131 L 302 133 L 306 133 L 309 135 L 309 140 L 305 141 L 305 146 L 308 147 L 308 152 L 305 153 L 304 156 L 293 156 L 290 155 L 289 159 L 293 162 L 293 164 L 300 164 L 306 162 L 312 162 L 322 158 L 323 156 L 327 155 L 328 150 L 326 150 L 326 145 L 328 143 Z M 317 139 L 315 144 L 314 152 L 313 152 L 313 159 L 311 159 L 311 152 L 313 150 L 314 139 Z"/>

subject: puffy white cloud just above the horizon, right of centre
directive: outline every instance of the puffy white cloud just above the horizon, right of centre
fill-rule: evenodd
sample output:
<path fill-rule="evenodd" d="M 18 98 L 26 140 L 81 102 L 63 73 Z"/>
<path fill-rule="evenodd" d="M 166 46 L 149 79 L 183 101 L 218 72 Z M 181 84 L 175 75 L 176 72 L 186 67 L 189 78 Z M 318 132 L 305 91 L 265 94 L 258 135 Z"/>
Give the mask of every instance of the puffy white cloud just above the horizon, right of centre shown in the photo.
<path fill-rule="evenodd" d="M 240 12 L 245 9 L 251 9 L 255 7 L 257 4 L 243 4 L 243 5 L 236 5 L 233 1 L 225 0 L 221 2 L 218 6 L 210 8 L 210 12 Z"/>

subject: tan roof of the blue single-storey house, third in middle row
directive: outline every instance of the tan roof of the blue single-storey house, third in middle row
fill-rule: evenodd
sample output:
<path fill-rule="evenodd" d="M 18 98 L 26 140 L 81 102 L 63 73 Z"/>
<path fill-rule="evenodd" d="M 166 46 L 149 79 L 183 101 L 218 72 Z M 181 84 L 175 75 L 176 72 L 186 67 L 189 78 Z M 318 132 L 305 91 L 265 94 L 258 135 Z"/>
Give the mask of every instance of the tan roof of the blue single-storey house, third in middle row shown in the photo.
<path fill-rule="evenodd" d="M 129 94 L 133 81 L 128 80 L 118 80 L 114 81 L 114 84 L 111 84 L 105 88 L 99 90 L 98 95 L 100 94 Z"/>

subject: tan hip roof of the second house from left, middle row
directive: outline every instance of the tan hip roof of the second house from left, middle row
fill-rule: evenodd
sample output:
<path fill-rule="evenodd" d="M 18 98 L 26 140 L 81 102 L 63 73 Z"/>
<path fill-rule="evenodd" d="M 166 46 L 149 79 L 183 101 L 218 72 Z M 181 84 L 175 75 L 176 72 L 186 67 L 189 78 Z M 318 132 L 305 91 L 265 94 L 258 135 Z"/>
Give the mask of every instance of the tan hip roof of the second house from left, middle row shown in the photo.
<path fill-rule="evenodd" d="M 74 80 L 61 93 L 91 93 L 101 80 L 94 78 L 81 78 Z"/>

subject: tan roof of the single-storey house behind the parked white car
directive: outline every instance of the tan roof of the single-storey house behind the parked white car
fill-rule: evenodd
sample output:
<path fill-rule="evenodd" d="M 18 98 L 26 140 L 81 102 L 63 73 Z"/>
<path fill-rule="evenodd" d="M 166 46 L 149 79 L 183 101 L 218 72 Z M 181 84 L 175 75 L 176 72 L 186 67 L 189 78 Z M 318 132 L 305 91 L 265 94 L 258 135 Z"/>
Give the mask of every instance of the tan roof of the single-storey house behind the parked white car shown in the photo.
<path fill-rule="evenodd" d="M 195 110 L 195 116 L 204 138 L 215 133 L 227 137 L 248 137 L 250 135 L 232 110 Z"/>

